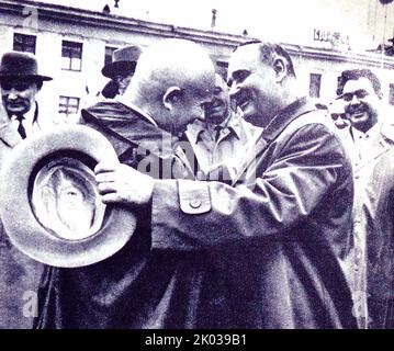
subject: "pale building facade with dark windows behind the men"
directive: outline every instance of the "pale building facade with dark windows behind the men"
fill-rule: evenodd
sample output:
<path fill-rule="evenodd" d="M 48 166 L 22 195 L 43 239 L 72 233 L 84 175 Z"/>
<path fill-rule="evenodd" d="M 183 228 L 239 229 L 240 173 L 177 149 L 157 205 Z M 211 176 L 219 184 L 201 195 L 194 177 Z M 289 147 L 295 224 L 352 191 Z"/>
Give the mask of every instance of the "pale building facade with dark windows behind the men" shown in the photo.
<path fill-rule="evenodd" d="M 115 48 L 146 47 L 165 37 L 192 39 L 211 54 L 225 73 L 233 49 L 251 39 L 214 31 L 147 22 L 108 12 L 93 12 L 37 1 L 0 1 L 0 54 L 15 49 L 36 55 L 41 70 L 54 78 L 38 95 L 45 111 L 67 118 L 92 104 L 106 83 L 101 75 Z M 394 58 L 379 53 L 354 53 L 346 36 L 315 29 L 311 44 L 283 44 L 294 59 L 303 93 L 324 103 L 336 95 L 344 69 L 370 67 L 382 79 L 385 99 L 394 104 Z"/>

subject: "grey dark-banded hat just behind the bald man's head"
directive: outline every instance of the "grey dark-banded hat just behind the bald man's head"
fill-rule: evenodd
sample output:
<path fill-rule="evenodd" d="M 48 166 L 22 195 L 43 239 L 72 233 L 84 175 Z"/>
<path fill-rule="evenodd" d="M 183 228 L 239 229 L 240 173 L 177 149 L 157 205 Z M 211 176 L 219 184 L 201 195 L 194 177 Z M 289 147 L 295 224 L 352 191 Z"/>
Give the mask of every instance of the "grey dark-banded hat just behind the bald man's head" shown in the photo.
<path fill-rule="evenodd" d="M 112 54 L 112 63 L 105 65 L 101 73 L 111 79 L 116 75 L 132 75 L 135 72 L 135 67 L 140 54 L 142 49 L 136 45 L 119 48 Z"/>

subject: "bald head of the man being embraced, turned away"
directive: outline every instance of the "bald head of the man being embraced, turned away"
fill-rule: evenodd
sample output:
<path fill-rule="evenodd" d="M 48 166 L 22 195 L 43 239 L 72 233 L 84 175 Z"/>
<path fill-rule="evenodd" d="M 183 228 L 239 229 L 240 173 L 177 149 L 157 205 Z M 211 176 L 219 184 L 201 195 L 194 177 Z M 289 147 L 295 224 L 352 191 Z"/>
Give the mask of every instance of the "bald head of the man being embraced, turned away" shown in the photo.
<path fill-rule="evenodd" d="M 168 132 L 182 132 L 214 88 L 214 65 L 198 44 L 164 39 L 144 50 L 126 95 Z"/>

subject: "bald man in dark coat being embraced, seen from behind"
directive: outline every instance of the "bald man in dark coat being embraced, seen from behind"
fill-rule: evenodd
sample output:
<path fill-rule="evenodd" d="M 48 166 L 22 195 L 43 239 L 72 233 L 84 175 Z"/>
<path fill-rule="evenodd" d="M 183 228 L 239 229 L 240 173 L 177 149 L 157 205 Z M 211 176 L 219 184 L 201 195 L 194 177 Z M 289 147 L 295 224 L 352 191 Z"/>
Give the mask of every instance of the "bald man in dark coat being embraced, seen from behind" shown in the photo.
<path fill-rule="evenodd" d="M 203 117 L 213 87 L 207 54 L 192 42 L 166 39 L 142 54 L 121 99 L 82 112 L 85 123 L 110 139 L 122 162 L 116 172 L 113 165 L 95 170 L 98 179 L 108 179 L 100 185 L 104 203 L 117 201 L 111 177 L 127 181 L 122 176 L 126 165 L 156 179 L 193 177 L 175 135 Z M 202 252 L 153 249 L 146 211 L 135 212 L 136 231 L 113 257 L 78 269 L 46 268 L 36 328 L 203 328 L 215 322 L 199 313 L 217 299 L 202 286 L 212 276 L 209 259 Z M 216 315 L 225 318 L 221 308 Z"/>

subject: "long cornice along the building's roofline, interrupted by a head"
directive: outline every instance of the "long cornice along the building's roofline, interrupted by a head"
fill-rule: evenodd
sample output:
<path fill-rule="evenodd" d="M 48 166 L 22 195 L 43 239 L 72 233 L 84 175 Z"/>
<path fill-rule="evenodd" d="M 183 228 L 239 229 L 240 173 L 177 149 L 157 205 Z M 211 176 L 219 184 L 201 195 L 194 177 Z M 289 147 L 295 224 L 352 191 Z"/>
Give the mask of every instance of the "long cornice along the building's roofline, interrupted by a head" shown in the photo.
<path fill-rule="evenodd" d="M 106 14 L 90 10 L 69 8 L 65 5 L 43 3 L 31 0 L 0 1 L 0 13 L 22 15 L 24 8 L 37 9 L 38 20 L 56 21 L 76 25 L 88 25 L 109 30 L 119 30 L 126 33 L 138 33 L 157 37 L 179 37 L 192 39 L 201 44 L 227 47 L 236 47 L 240 43 L 254 39 L 249 36 L 234 35 L 228 33 L 203 31 L 171 24 L 149 22 L 117 14 Z M 312 46 L 282 44 L 292 56 L 320 59 L 338 63 L 351 63 L 370 67 L 394 68 L 394 58 L 376 53 L 340 52 Z M 383 58 L 383 59 L 382 59 Z M 383 65 L 382 65 L 383 63 Z"/>

